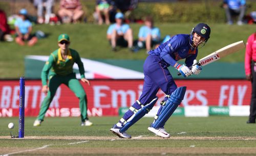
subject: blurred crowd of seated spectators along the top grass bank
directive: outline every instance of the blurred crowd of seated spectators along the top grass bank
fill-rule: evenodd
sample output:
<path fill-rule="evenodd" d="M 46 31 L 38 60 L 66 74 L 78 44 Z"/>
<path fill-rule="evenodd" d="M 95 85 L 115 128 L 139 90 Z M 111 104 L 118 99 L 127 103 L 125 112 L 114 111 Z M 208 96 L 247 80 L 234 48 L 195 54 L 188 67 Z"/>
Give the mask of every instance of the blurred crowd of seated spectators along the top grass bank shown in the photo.
<path fill-rule="evenodd" d="M 84 11 L 80 0 L 30 0 L 36 9 L 36 14 L 29 13 L 26 9 L 18 11 L 17 15 L 6 17 L 3 10 L 0 10 L 0 37 L 2 41 L 15 40 L 19 45 L 26 43 L 33 46 L 37 39 L 45 37 L 42 31 L 35 31 L 32 34 L 32 24 L 76 24 L 87 22 L 89 15 Z M 56 7 L 57 6 L 57 7 Z M 96 0 L 92 16 L 95 24 L 109 25 L 106 38 L 113 51 L 117 47 L 127 47 L 132 52 L 145 49 L 146 52 L 167 41 L 172 35 L 161 36 L 160 29 L 154 26 L 154 17 L 145 15 L 141 17 L 140 24 L 143 24 L 138 32 L 138 39 L 134 40 L 134 32 L 130 27 L 129 14 L 138 6 L 138 0 Z M 224 0 L 228 25 L 235 22 L 237 25 L 245 23 L 256 23 L 256 11 L 246 16 L 245 0 Z M 246 22 L 245 22 L 246 19 Z M 10 29 L 8 23 L 12 23 L 14 30 Z M 11 35 L 14 34 L 14 35 Z M 12 38 L 12 36 L 15 36 Z M 137 38 L 137 37 L 136 37 Z"/>

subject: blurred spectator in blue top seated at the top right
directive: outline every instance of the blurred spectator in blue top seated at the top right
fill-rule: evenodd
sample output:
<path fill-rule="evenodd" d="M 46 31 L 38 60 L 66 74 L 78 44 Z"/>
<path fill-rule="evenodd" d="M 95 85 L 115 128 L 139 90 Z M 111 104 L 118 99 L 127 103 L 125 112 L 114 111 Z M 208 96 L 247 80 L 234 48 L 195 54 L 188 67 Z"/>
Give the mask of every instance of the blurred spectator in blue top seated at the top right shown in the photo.
<path fill-rule="evenodd" d="M 245 0 L 224 0 L 224 5 L 223 8 L 225 9 L 226 12 L 226 17 L 227 17 L 227 24 L 232 25 L 233 20 L 232 16 L 233 15 L 239 15 L 238 16 L 238 25 L 243 25 L 243 17 L 245 15 Z"/>

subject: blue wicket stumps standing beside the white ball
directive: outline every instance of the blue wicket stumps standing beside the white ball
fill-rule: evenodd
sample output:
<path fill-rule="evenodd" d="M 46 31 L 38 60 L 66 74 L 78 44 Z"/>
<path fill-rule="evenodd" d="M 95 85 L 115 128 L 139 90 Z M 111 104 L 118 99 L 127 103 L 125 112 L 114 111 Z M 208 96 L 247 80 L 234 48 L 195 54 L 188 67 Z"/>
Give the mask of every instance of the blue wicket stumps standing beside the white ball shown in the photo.
<path fill-rule="evenodd" d="M 25 77 L 19 78 L 19 116 L 18 116 L 18 138 L 24 138 L 25 117 Z"/>

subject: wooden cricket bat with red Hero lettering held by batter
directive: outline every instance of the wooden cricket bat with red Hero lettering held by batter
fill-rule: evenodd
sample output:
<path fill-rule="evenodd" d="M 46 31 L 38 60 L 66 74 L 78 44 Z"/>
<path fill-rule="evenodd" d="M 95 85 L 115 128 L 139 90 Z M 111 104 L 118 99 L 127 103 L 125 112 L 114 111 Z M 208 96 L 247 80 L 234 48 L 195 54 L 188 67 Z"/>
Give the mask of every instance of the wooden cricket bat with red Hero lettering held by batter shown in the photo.
<path fill-rule="evenodd" d="M 201 58 L 199 60 L 199 62 L 197 63 L 197 65 L 207 65 L 207 64 L 210 64 L 214 61 L 217 61 L 229 54 L 232 54 L 232 53 L 235 53 L 241 49 L 245 48 L 245 44 L 244 44 L 244 41 L 238 41 L 238 42 L 234 42 L 232 44 L 229 44 L 228 46 L 226 47 L 223 47 L 203 58 Z M 178 73 L 178 75 L 181 75 L 180 73 Z"/>

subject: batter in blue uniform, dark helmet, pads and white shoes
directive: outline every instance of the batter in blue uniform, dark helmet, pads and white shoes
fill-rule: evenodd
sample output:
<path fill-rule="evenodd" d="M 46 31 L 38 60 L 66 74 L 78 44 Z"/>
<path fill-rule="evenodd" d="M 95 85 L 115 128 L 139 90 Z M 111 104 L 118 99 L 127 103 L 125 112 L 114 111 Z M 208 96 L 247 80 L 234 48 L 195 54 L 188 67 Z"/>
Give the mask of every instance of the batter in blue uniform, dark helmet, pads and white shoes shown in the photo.
<path fill-rule="evenodd" d="M 170 135 L 165 131 L 164 125 L 183 100 L 186 87 L 177 87 L 167 67 L 173 66 L 183 77 L 199 74 L 202 68 L 196 60 L 198 47 L 204 46 L 209 38 L 210 27 L 200 23 L 190 34 L 175 35 L 157 49 L 148 52 L 149 55 L 143 65 L 142 94 L 110 131 L 120 138 L 132 138 L 126 130 L 150 112 L 158 99 L 156 94 L 160 88 L 166 97 L 161 102 L 155 120 L 147 129 L 157 136 L 169 138 Z M 178 63 L 180 59 L 185 59 L 185 64 Z"/>

